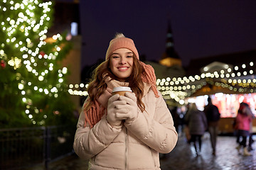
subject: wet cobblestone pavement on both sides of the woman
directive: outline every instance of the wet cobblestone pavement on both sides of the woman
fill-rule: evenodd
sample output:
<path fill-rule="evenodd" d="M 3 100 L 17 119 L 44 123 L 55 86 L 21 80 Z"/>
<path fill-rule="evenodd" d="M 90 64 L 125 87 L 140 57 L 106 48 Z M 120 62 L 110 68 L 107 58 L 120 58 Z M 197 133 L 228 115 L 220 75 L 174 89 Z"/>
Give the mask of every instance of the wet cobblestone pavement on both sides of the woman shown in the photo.
<path fill-rule="evenodd" d="M 254 140 L 256 136 L 254 135 Z M 255 150 L 252 156 L 245 157 L 238 154 L 235 137 L 218 136 L 216 155 L 212 155 L 208 133 L 203 136 L 201 154 L 196 156 L 193 145 L 188 145 L 183 135 L 169 154 L 160 154 L 162 170 L 249 170 L 256 169 L 256 142 L 252 145 Z M 58 162 L 50 164 L 50 170 L 82 170 L 87 169 L 87 162 L 79 159 L 75 154 Z M 41 169 L 36 169 L 41 170 Z"/>

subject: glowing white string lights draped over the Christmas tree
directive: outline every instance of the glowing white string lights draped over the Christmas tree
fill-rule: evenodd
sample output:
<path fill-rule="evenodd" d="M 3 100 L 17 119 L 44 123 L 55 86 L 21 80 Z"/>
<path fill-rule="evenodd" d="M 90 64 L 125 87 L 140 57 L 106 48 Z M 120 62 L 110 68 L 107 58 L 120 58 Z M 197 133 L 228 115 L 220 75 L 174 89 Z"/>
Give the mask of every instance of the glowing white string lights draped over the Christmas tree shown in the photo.
<path fill-rule="evenodd" d="M 48 23 L 51 21 L 49 14 L 52 5 L 51 1 L 39 2 L 38 0 L 18 2 L 4 0 L 0 4 L 0 11 L 4 13 L 2 14 L 4 18 L 0 23 L 0 29 L 7 36 L 6 40 L 0 44 L 0 59 L 6 60 L 9 67 L 16 71 L 21 68 L 26 69 L 28 74 L 33 74 L 33 76 L 30 75 L 29 77 L 36 77 L 38 79 L 36 82 L 25 80 L 17 84 L 17 88 L 23 96 L 22 101 L 26 104 L 24 112 L 33 124 L 39 123 L 43 125 L 45 121 L 38 121 L 33 116 L 34 113 L 38 114 L 41 112 L 38 111 L 36 106 L 33 106 L 33 99 L 29 95 L 33 92 L 40 92 L 58 98 L 58 92 L 63 91 L 65 86 L 64 77 L 68 73 L 68 68 L 63 67 L 60 69 L 58 79 L 55 79 L 56 82 L 50 81 L 47 78 L 49 72 L 55 71 L 55 60 L 63 48 L 58 43 L 51 52 L 43 52 L 41 50 L 47 44 L 46 40 L 48 38 L 46 33 L 48 33 Z M 8 13 L 16 13 L 16 15 L 10 16 Z M 38 17 L 40 14 L 41 17 Z M 34 40 L 35 37 L 38 37 L 38 41 Z M 63 37 L 58 33 L 53 35 L 53 40 L 60 42 L 63 40 Z M 11 47 L 11 50 L 9 47 Z M 17 80 L 26 79 L 26 77 L 23 77 L 24 75 L 19 73 L 17 75 L 19 75 L 16 77 Z M 48 116 L 44 115 L 43 118 L 48 118 Z"/>

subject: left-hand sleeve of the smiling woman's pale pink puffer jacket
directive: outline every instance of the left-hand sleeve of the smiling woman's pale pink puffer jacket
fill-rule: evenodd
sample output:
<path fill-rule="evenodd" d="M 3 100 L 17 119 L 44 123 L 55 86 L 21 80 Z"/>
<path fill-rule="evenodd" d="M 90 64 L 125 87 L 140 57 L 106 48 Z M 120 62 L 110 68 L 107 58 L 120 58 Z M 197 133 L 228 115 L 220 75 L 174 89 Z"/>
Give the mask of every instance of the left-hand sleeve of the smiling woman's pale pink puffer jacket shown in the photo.
<path fill-rule="evenodd" d="M 90 128 L 84 127 L 85 113 L 80 113 L 73 148 L 75 153 L 83 159 L 90 159 L 105 149 L 121 132 L 122 125 L 112 128 L 107 123 L 106 116 Z"/>

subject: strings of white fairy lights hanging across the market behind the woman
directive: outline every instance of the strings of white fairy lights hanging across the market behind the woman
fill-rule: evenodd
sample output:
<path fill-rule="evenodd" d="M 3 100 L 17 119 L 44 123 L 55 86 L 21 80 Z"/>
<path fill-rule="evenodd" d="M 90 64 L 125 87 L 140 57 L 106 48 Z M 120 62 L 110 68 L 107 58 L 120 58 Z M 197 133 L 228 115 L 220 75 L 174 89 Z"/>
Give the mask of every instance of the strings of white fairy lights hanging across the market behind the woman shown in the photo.
<path fill-rule="evenodd" d="M 250 67 L 254 66 L 253 62 L 250 62 Z M 240 68 L 245 69 L 246 64 L 241 64 Z M 235 71 L 238 71 L 239 67 L 234 67 Z M 184 99 L 190 96 L 198 89 L 201 89 L 206 85 L 206 80 L 210 84 L 215 86 L 221 86 L 223 88 L 230 89 L 231 91 L 240 93 L 256 93 L 256 79 L 255 69 L 250 69 L 249 72 L 243 71 L 232 72 L 230 67 L 226 67 L 219 72 L 206 72 L 201 75 L 189 76 L 189 77 L 166 77 L 165 79 L 156 79 L 156 86 L 165 99 L 174 99 L 180 104 L 184 103 Z M 248 77 L 249 79 L 240 79 L 240 77 Z M 210 81 L 210 79 L 220 79 L 220 82 Z M 70 95 L 87 96 L 86 91 L 88 84 L 70 84 L 68 92 Z M 80 89 L 80 90 L 78 90 Z"/>

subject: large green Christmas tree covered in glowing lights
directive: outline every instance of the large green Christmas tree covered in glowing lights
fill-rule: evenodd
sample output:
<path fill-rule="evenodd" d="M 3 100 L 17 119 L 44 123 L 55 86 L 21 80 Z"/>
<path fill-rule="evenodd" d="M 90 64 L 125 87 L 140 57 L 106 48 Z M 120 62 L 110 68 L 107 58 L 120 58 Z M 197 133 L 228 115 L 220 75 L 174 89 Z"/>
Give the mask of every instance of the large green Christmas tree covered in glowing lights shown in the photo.
<path fill-rule="evenodd" d="M 0 2 L 0 127 L 63 125 L 73 119 L 65 35 L 50 35 L 53 3 Z"/>

